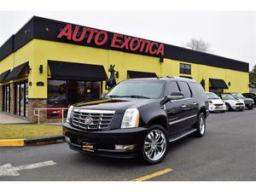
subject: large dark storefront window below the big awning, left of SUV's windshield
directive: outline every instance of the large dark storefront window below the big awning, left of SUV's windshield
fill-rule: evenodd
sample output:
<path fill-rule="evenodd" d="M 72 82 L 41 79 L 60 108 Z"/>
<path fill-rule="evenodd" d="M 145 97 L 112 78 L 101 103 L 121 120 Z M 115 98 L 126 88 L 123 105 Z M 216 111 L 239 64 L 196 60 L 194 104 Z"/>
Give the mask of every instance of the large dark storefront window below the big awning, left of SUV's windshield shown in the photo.
<path fill-rule="evenodd" d="M 48 80 L 48 108 L 67 108 L 76 102 L 99 99 L 102 82 L 76 80 Z M 48 110 L 48 118 L 61 118 L 61 111 Z"/>

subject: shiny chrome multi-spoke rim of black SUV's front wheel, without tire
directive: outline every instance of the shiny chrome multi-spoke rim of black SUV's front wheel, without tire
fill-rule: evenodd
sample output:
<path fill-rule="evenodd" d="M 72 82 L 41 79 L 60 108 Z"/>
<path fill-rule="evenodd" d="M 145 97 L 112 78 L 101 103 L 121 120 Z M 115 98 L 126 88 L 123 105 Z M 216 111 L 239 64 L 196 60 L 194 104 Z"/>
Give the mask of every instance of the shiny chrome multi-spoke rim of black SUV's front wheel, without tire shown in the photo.
<path fill-rule="evenodd" d="M 150 131 L 144 141 L 144 154 L 149 160 L 160 160 L 166 153 L 166 135 L 163 131 Z"/>

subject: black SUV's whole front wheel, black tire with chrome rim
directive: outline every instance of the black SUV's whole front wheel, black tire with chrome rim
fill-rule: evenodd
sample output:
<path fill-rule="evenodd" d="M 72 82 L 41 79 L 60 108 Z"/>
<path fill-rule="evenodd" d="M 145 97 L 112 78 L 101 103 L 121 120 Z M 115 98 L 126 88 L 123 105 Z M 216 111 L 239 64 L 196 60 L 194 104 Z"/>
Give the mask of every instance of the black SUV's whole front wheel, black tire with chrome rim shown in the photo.
<path fill-rule="evenodd" d="M 157 137 L 157 134 L 160 134 L 160 136 Z M 154 143 L 155 138 L 157 138 L 157 141 L 162 142 L 161 145 L 159 144 L 159 147 Z M 160 125 L 152 125 L 149 127 L 148 133 L 146 137 L 144 137 L 142 146 L 139 149 L 140 159 L 143 163 L 148 165 L 160 163 L 160 161 L 164 160 L 166 157 L 168 147 L 169 141 L 166 130 Z M 162 152 L 160 152 L 161 149 Z M 156 151 L 159 151 L 159 154 L 157 154 Z"/>

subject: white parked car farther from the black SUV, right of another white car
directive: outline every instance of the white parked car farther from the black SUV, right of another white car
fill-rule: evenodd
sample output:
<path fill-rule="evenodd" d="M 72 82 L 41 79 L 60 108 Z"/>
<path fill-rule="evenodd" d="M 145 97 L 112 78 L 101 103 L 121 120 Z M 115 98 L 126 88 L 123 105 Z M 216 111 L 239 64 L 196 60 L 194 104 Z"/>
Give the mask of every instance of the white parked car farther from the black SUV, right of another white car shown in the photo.
<path fill-rule="evenodd" d="M 235 99 L 233 96 L 231 96 L 228 93 L 220 94 L 220 97 L 225 102 L 227 110 L 239 110 L 242 111 L 245 108 L 245 103 L 242 99 Z"/>

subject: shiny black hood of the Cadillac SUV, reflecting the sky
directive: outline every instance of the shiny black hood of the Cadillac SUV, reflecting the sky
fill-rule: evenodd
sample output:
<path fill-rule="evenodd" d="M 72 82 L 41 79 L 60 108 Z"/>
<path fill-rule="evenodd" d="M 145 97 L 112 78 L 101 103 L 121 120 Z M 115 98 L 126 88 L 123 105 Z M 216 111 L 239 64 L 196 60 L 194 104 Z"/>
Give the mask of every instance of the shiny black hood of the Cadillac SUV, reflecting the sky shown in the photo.
<path fill-rule="evenodd" d="M 135 99 L 135 98 L 109 98 L 100 99 L 92 102 L 79 102 L 74 107 L 96 109 L 96 110 L 114 110 L 117 113 L 123 113 L 127 108 L 139 108 L 153 99 Z"/>

